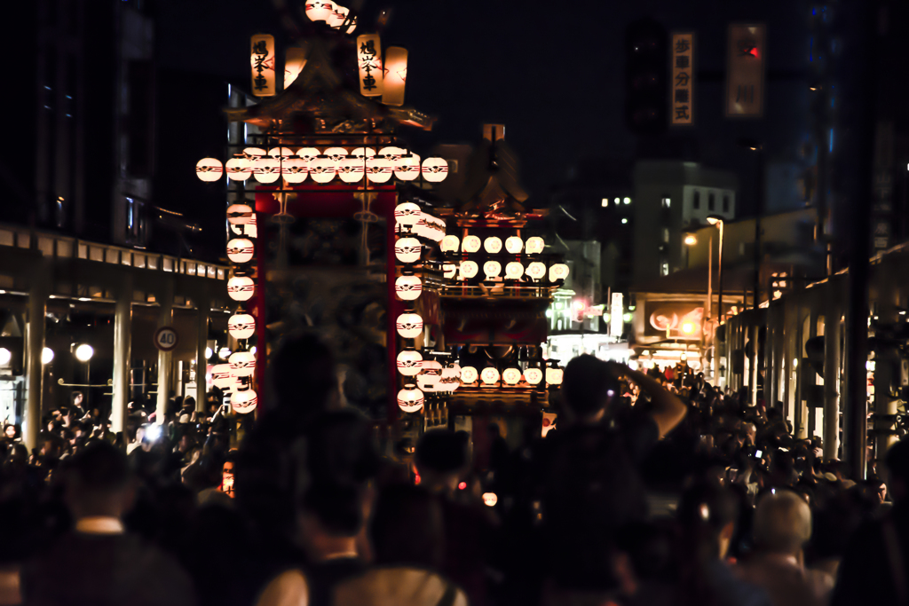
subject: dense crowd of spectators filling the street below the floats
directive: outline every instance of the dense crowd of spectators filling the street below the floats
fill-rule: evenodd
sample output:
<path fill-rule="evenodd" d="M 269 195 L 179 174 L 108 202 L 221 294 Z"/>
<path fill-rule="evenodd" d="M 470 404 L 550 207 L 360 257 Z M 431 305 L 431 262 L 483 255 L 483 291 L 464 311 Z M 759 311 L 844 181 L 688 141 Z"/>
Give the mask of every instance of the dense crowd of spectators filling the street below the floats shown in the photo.
<path fill-rule="evenodd" d="M 909 441 L 856 483 L 747 392 L 582 355 L 545 437 L 381 452 L 325 343 L 271 371 L 235 449 L 217 394 L 125 435 L 75 395 L 33 452 L 6 427 L 0 605 L 909 603 Z"/>

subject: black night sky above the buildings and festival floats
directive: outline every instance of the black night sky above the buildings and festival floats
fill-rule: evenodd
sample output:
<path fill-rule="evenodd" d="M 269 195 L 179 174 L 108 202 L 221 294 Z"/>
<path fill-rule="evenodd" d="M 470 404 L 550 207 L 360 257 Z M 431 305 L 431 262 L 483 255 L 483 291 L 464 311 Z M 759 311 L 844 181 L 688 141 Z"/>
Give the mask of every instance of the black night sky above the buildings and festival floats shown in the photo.
<path fill-rule="evenodd" d="M 477 138 L 484 122 L 504 123 L 537 196 L 584 157 L 634 156 L 637 138 L 624 127 L 623 38 L 645 15 L 697 33 L 697 126 L 670 138 L 684 141 L 686 159 L 738 172 L 745 207 L 754 164 L 736 139 L 760 137 L 771 161 L 792 161 L 807 132 L 807 86 L 793 79 L 808 66 L 804 0 L 366 0 L 365 12 L 385 6 L 394 13 L 383 45 L 409 51 L 406 104 L 439 118 L 432 134 L 405 136 L 418 146 L 457 143 Z M 249 36 L 281 31 L 268 0 L 158 0 L 157 14 L 162 65 L 236 81 L 248 78 Z M 772 80 L 764 119 L 730 122 L 726 25 L 745 20 L 767 24 Z M 371 23 L 366 15 L 358 33 Z"/>

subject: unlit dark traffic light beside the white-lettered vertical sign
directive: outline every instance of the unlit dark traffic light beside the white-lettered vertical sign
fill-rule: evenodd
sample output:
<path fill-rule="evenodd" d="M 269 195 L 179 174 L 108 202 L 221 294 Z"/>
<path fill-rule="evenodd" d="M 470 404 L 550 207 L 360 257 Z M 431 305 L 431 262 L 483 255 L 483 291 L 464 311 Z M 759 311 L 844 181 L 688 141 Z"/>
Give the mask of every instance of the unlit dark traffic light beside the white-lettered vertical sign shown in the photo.
<path fill-rule="evenodd" d="M 645 17 L 625 29 L 625 124 L 635 134 L 664 133 L 669 111 L 669 35 Z"/>

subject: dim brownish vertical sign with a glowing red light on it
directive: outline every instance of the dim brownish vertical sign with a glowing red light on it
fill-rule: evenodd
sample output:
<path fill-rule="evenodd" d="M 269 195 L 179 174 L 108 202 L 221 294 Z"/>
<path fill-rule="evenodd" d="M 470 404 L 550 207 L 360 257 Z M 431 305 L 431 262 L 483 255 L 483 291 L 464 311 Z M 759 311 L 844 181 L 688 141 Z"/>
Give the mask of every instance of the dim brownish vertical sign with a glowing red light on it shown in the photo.
<path fill-rule="evenodd" d="M 729 25 L 729 65 L 726 74 L 726 116 L 764 115 L 766 27 Z"/>

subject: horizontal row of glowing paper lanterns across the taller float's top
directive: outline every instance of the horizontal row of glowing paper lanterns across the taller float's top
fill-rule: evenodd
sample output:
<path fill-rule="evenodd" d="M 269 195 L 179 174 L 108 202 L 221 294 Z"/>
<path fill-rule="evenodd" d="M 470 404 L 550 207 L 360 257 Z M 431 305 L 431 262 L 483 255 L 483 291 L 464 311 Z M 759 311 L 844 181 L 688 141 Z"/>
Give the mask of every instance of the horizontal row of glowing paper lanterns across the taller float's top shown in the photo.
<path fill-rule="evenodd" d="M 343 147 L 330 147 L 324 152 L 305 147 L 295 155 L 286 147 L 272 152 L 277 154 L 247 148 L 244 154 L 235 154 L 226 164 L 215 158 L 203 158 L 196 163 L 195 174 L 209 183 L 226 173 L 231 181 L 253 177 L 261 184 L 273 184 L 282 178 L 289 184 L 300 184 L 306 177 L 327 184 L 335 176 L 350 184 L 363 181 L 364 176 L 373 183 L 387 183 L 392 175 L 400 181 L 413 181 L 421 174 L 425 181 L 438 183 L 448 176 L 445 158 L 426 158 L 421 163 L 419 155 L 407 154 L 399 147 L 386 147 L 380 154 L 365 147 L 355 149 L 354 154 L 347 154 Z"/>

